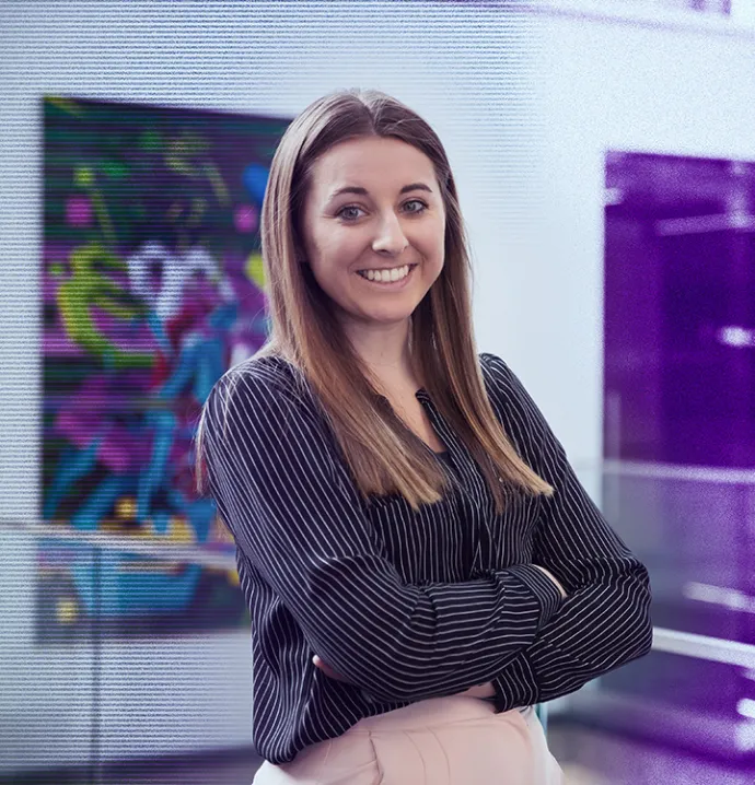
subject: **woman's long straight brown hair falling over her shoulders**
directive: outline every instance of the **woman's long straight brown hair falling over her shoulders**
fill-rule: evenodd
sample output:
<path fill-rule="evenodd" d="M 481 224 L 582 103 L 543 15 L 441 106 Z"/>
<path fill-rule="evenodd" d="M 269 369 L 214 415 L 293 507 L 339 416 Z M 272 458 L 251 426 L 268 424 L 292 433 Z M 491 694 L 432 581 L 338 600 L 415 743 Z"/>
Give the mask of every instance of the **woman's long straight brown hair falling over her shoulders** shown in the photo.
<path fill-rule="evenodd" d="M 425 153 L 434 166 L 445 207 L 443 269 L 411 315 L 409 341 L 417 377 L 477 461 L 499 513 L 504 506 L 501 480 L 532 494 L 550 495 L 553 488 L 518 455 L 485 390 L 473 335 L 467 237 L 445 150 L 421 117 L 384 93 L 350 90 L 326 95 L 293 120 L 278 145 L 262 211 L 271 330 L 255 356 L 276 354 L 301 372 L 363 497 L 399 493 L 415 509 L 442 497 L 448 481 L 441 467 L 393 409 L 379 405 L 369 371 L 341 330 L 327 295 L 302 263 L 303 203 L 314 162 L 339 142 L 374 136 L 398 139 Z M 243 366 L 230 373 L 243 374 Z M 202 492 L 204 426 L 202 412 L 197 432 L 197 484 Z"/>

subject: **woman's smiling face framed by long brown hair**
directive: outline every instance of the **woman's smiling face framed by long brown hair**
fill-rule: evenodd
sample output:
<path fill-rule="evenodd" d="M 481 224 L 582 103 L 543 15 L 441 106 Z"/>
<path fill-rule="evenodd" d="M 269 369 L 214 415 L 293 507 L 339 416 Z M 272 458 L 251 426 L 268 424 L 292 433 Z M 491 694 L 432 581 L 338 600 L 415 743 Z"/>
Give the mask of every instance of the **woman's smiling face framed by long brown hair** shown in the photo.
<path fill-rule="evenodd" d="M 408 319 L 443 269 L 445 211 L 430 159 L 397 139 L 337 144 L 313 166 L 302 234 L 341 320 Z"/>

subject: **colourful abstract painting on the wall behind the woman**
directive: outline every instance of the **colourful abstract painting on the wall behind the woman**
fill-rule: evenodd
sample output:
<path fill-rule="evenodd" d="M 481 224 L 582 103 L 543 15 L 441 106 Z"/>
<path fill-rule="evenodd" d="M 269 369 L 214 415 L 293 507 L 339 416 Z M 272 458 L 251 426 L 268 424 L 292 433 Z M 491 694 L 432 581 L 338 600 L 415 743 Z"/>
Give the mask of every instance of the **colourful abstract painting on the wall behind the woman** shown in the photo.
<path fill-rule="evenodd" d="M 43 116 L 40 518 L 232 554 L 193 438 L 267 335 L 259 213 L 290 120 L 59 97 Z M 245 618 L 233 569 L 56 539 L 38 572 L 43 641 Z"/>

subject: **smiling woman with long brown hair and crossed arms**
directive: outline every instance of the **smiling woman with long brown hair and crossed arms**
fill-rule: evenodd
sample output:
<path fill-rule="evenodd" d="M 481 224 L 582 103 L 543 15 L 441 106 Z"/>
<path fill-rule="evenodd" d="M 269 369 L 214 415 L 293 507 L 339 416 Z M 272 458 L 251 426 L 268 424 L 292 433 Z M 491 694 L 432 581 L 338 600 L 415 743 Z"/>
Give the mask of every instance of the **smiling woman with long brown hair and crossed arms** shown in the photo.
<path fill-rule="evenodd" d="M 313 103 L 263 255 L 270 340 L 198 437 L 251 608 L 254 782 L 561 782 L 532 706 L 649 651 L 648 574 L 476 353 L 435 133 L 381 93 Z"/>

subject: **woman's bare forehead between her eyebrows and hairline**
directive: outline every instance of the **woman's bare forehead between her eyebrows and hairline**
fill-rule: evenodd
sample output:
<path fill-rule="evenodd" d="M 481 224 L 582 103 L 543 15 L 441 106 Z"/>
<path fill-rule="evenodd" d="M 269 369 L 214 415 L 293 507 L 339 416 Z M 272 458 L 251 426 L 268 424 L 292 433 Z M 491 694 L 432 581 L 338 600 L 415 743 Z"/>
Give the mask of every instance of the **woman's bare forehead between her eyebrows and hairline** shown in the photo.
<path fill-rule="evenodd" d="M 344 186 L 398 191 L 418 180 L 431 188 L 438 185 L 432 162 L 421 150 L 399 139 L 363 137 L 323 153 L 312 167 L 311 185 L 318 197 L 327 198 Z"/>

